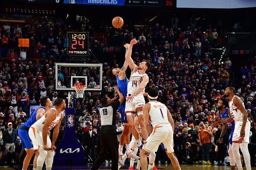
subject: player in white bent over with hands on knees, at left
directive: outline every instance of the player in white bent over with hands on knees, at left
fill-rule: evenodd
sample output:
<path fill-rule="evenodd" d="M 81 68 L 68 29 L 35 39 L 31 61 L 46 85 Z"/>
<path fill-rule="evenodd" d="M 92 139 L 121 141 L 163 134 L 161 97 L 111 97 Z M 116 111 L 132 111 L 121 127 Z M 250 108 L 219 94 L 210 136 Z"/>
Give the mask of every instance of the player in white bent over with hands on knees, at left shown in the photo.
<path fill-rule="evenodd" d="M 28 135 L 33 142 L 34 150 L 39 148 L 37 158 L 37 170 L 42 170 L 44 161 L 46 170 L 51 170 L 53 166 L 54 145 L 59 135 L 59 126 L 63 118 L 62 110 L 66 109 L 65 100 L 58 98 L 55 100 L 55 108 L 49 109 L 39 120 L 37 120 L 28 131 Z M 48 136 L 48 131 L 53 127 L 53 142 Z M 40 146 L 40 147 L 39 147 Z"/>

